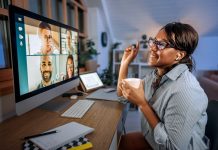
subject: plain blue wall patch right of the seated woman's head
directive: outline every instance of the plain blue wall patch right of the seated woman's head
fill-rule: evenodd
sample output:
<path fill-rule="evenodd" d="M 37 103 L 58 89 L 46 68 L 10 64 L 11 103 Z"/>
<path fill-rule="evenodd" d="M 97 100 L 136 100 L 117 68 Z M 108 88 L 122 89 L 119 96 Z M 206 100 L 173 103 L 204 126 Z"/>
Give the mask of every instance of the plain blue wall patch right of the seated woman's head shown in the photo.
<path fill-rule="evenodd" d="M 218 37 L 199 37 L 193 54 L 196 70 L 218 70 Z"/>

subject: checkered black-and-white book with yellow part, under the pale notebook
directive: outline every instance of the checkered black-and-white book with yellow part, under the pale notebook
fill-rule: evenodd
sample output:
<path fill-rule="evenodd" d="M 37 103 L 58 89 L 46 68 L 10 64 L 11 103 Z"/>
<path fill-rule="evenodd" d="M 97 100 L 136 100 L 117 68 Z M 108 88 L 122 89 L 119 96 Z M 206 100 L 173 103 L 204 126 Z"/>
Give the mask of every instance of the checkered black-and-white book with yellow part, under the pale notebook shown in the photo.
<path fill-rule="evenodd" d="M 92 143 L 85 137 L 80 137 L 77 140 L 71 141 L 64 146 L 57 148 L 57 150 L 85 150 L 92 148 Z M 23 143 L 23 150 L 41 150 L 37 145 L 35 145 L 30 140 Z"/>

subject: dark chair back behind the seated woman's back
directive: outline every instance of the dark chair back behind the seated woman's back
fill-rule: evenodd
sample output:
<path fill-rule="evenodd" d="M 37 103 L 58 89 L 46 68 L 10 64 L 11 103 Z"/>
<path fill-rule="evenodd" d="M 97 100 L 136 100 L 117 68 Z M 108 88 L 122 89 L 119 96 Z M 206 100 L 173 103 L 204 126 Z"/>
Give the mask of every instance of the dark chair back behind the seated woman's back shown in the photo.
<path fill-rule="evenodd" d="M 209 101 L 207 115 L 205 135 L 210 139 L 210 150 L 218 150 L 218 101 Z"/>

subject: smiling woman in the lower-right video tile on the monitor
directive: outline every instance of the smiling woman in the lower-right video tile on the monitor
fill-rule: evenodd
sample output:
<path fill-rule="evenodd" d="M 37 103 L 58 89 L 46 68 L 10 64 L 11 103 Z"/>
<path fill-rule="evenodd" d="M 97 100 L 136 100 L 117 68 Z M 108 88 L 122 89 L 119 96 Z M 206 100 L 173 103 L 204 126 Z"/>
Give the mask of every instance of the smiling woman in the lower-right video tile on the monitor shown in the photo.
<path fill-rule="evenodd" d="M 66 62 L 66 79 L 72 78 L 74 75 L 73 56 L 69 55 Z"/>

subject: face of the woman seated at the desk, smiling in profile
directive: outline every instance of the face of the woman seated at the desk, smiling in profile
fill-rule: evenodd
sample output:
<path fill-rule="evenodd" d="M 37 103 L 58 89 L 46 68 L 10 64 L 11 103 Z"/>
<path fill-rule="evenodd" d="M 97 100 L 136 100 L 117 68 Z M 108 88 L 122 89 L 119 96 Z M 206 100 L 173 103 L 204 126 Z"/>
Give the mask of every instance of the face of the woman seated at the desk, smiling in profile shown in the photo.
<path fill-rule="evenodd" d="M 159 49 L 157 43 L 169 43 L 165 31 L 162 29 L 155 37 L 155 44 L 149 46 L 149 57 L 148 64 L 152 67 L 157 67 L 161 69 L 168 68 L 173 64 L 177 63 L 176 57 L 178 51 L 174 48 L 171 48 L 168 44 L 166 48 Z"/>

